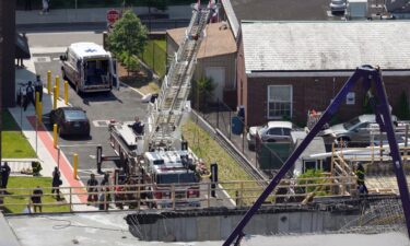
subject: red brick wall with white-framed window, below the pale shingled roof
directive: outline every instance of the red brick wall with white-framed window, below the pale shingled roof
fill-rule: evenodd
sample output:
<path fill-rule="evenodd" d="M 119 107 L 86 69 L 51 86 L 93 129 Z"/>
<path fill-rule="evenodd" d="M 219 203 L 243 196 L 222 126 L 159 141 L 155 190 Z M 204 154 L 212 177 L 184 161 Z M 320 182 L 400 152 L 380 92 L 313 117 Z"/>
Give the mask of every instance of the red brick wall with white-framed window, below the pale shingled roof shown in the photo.
<path fill-rule="evenodd" d="M 238 62 L 239 65 L 239 62 Z M 248 126 L 261 125 L 268 119 L 268 85 L 292 85 L 293 87 L 293 121 L 306 122 L 308 109 L 325 110 L 330 101 L 340 91 L 348 78 L 248 78 L 244 83 L 244 104 L 246 105 L 246 118 Z M 245 80 L 246 81 L 246 80 Z M 410 77 L 384 77 L 389 103 L 395 106 L 402 91 L 410 95 Z M 238 84 L 238 92 L 239 90 Z M 345 101 L 339 108 L 337 115 L 341 120 L 350 119 L 362 114 L 364 91 L 361 83 L 353 89 L 355 92 L 355 104 L 347 105 Z M 239 95 L 239 93 L 238 93 Z M 239 97 L 238 97 L 239 98 Z M 238 102 L 241 104 L 241 102 Z"/>

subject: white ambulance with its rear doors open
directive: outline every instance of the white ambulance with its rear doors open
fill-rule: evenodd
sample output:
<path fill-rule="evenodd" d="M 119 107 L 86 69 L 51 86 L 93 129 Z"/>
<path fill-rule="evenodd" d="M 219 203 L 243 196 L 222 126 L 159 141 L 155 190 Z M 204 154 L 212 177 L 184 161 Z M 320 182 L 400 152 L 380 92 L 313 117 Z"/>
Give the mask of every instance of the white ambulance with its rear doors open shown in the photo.
<path fill-rule="evenodd" d="M 81 92 L 104 92 L 118 86 L 117 62 L 94 43 L 71 44 L 60 56 L 61 73 Z"/>

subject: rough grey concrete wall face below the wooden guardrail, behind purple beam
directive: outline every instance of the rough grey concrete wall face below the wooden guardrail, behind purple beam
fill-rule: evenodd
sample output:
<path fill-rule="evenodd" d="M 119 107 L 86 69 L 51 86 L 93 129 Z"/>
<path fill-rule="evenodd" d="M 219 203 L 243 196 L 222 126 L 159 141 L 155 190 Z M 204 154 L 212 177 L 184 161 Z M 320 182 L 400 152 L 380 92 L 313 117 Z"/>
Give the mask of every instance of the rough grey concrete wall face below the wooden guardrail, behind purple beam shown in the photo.
<path fill-rule="evenodd" d="M 336 231 L 358 215 L 332 212 L 284 212 L 254 215 L 245 227 L 248 235 L 272 235 L 281 233 L 316 233 Z M 130 226 L 132 235 L 143 241 L 221 241 L 234 230 L 243 214 L 215 216 L 180 216 L 157 220 L 152 224 Z"/>

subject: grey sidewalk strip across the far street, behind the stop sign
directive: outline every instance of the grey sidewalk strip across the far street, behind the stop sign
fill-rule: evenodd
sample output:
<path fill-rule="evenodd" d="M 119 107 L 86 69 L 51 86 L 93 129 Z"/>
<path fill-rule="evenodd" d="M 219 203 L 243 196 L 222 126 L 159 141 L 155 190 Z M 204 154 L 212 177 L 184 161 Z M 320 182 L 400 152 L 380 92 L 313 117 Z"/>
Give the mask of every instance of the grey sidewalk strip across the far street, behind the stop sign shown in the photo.
<path fill-rule="evenodd" d="M 107 11 L 113 8 L 96 8 L 96 9 L 59 9 L 50 10 L 49 14 L 40 15 L 40 10 L 32 11 L 15 11 L 15 24 L 16 25 L 36 25 L 36 24 L 65 24 L 65 23 L 104 23 L 106 24 Z M 120 8 L 115 8 L 120 10 Z M 147 14 L 148 8 L 140 7 L 133 8 L 137 14 Z M 191 8 L 190 5 L 171 5 L 165 11 L 168 13 L 168 20 L 177 19 L 190 19 Z"/>

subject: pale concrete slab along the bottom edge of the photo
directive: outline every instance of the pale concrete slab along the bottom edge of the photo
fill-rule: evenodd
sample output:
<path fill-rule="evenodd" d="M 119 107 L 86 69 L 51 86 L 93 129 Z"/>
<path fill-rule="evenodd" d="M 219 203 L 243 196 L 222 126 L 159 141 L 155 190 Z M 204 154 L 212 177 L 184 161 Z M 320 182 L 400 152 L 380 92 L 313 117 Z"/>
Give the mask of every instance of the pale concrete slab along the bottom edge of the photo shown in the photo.
<path fill-rule="evenodd" d="M 7 222 L 14 231 L 21 246 L 72 246 L 87 245 L 222 245 L 223 242 L 190 242 L 190 243 L 163 243 L 142 242 L 128 232 L 126 221 L 122 219 L 127 212 L 98 212 L 78 213 L 65 215 L 22 215 L 8 216 Z M 7 225 L 7 223 L 5 223 Z M 0 235 L 4 230 L 1 227 Z M 47 239 L 45 239 L 45 236 Z M 3 243 L 3 238 L 0 243 Z M 296 236 L 245 236 L 242 245 L 246 246 L 410 246 L 405 233 L 393 232 L 373 235 L 359 234 L 326 234 L 326 235 L 296 235 Z M 3 246 L 2 244 L 0 244 Z M 16 244 L 15 246 L 17 246 Z M 5 245 L 4 245 L 5 246 Z M 14 246 L 7 244 L 7 246 Z"/>

